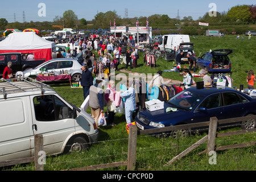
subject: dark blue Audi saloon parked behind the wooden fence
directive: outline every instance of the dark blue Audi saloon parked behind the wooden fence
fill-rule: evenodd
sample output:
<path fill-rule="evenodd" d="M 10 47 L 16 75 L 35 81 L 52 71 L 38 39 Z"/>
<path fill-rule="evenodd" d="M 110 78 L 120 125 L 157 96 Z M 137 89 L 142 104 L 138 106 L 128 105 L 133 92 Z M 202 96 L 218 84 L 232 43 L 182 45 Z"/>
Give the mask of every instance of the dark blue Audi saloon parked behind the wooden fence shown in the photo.
<path fill-rule="evenodd" d="M 167 108 L 171 111 L 166 110 Z M 140 110 L 135 121 L 140 130 L 147 130 L 207 122 L 211 117 L 228 119 L 255 114 L 256 99 L 238 90 L 228 87 L 203 89 L 191 87 L 165 102 L 162 110 L 149 111 L 146 108 Z M 241 124 L 242 129 L 254 129 L 255 119 Z"/>

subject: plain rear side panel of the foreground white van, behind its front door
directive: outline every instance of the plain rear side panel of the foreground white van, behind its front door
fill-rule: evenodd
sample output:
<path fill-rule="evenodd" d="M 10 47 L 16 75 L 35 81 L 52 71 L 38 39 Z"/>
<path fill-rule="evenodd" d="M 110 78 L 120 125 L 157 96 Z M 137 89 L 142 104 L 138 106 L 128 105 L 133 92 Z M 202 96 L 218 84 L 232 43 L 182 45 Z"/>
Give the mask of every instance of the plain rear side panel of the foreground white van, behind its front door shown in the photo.
<path fill-rule="evenodd" d="M 0 162 L 31 156 L 33 135 L 29 97 L 0 100 Z"/>

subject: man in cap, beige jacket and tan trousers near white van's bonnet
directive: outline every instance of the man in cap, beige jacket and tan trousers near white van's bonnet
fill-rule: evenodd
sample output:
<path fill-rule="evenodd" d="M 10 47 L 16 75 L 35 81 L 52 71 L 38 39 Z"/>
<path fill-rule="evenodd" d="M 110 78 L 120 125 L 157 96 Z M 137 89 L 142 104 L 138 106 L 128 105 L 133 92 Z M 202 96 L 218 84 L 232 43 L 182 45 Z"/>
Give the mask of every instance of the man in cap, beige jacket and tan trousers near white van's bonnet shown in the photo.
<path fill-rule="evenodd" d="M 96 79 L 95 84 L 90 86 L 90 89 L 86 93 L 86 96 L 89 96 L 89 106 L 92 111 L 92 118 L 94 119 L 98 127 L 98 118 L 104 110 L 104 91 L 101 88 L 101 79 Z"/>

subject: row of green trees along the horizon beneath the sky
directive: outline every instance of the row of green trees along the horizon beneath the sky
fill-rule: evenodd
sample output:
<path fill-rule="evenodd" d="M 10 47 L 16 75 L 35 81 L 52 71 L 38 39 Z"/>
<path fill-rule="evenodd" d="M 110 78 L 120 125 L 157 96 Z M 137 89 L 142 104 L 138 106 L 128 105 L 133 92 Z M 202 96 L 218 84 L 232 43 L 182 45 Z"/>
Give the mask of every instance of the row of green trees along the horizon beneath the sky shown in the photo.
<path fill-rule="evenodd" d="M 106 13 L 98 13 L 94 16 L 94 19 L 90 22 L 86 19 L 78 19 L 77 15 L 72 10 L 67 10 L 63 13 L 63 16 L 55 16 L 53 22 L 30 22 L 30 23 L 8 23 L 6 19 L 0 19 L 0 28 L 4 30 L 6 28 L 18 28 L 22 30 L 24 26 L 26 28 L 38 28 L 39 30 L 45 29 L 58 29 L 52 26 L 63 26 L 76 29 L 90 28 L 103 28 L 109 29 L 110 22 L 112 26 L 115 23 L 117 26 L 135 26 L 137 19 L 139 19 L 139 26 L 146 26 L 146 19 L 152 28 L 159 29 L 180 29 L 187 26 L 198 26 L 198 22 L 206 22 L 212 26 L 229 26 L 237 24 L 251 24 L 256 20 L 256 5 L 237 5 L 232 7 L 227 12 L 216 12 L 216 16 L 209 16 L 205 13 L 203 17 L 198 20 L 193 20 L 192 16 L 184 16 L 183 19 L 170 18 L 168 15 L 154 14 L 151 16 L 141 16 L 134 18 L 121 18 L 117 15 L 117 12 L 107 11 Z"/>

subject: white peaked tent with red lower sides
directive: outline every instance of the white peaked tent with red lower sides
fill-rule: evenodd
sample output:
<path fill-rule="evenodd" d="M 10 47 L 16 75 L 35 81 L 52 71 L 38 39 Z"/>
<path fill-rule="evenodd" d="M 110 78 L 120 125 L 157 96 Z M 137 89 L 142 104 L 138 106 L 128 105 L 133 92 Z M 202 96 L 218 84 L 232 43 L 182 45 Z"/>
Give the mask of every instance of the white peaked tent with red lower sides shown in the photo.
<path fill-rule="evenodd" d="M 52 59 L 53 42 L 42 39 L 34 32 L 13 32 L 0 42 L 0 53 L 34 53 L 35 59 Z"/>

